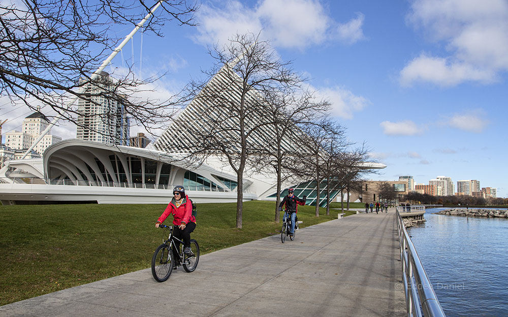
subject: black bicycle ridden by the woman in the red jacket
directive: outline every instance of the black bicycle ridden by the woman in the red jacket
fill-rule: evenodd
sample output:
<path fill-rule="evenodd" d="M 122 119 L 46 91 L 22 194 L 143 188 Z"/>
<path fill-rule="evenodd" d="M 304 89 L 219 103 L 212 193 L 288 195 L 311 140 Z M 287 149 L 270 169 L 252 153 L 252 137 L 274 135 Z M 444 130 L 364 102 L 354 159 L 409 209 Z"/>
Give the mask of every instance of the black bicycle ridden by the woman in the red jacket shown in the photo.
<path fill-rule="evenodd" d="M 193 272 L 196 270 L 199 262 L 199 244 L 196 240 L 190 239 L 190 252 L 188 254 L 183 252 L 183 241 L 173 236 L 173 226 L 164 224 L 159 225 L 160 228 L 169 230 L 168 239 L 163 244 L 157 247 L 153 252 L 152 257 L 152 275 L 157 282 L 164 282 L 169 278 L 173 267 L 183 266 L 185 272 Z M 177 249 L 175 242 L 180 242 L 180 247 Z M 173 251 L 172 251 L 173 250 Z M 175 256 L 177 258 L 175 258 Z"/>

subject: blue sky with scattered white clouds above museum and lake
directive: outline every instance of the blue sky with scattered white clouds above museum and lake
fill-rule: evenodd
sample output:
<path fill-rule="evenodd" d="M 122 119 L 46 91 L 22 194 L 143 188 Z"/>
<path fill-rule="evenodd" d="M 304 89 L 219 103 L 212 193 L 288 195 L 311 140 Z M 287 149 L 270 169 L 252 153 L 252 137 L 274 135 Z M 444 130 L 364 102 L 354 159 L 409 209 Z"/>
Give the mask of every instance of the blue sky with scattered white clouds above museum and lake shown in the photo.
<path fill-rule="evenodd" d="M 142 77 L 166 73 L 154 85 L 161 98 L 204 77 L 212 45 L 261 32 L 328 98 L 348 138 L 387 165 L 368 178 L 474 179 L 508 197 L 508 1 L 205 0 L 195 18 L 198 26 L 167 23 L 163 38 L 138 33 L 122 52 Z M 30 113 L 11 108 L 0 99 L 3 133 Z M 76 128 L 60 123 L 52 133 L 72 138 Z"/>

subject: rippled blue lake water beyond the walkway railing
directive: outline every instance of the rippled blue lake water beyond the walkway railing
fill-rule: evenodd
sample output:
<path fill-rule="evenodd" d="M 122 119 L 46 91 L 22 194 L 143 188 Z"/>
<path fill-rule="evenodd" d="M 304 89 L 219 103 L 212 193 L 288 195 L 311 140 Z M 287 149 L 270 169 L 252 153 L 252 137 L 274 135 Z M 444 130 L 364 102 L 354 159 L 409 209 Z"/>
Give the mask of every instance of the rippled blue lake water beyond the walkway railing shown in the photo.
<path fill-rule="evenodd" d="M 408 230 L 447 317 L 508 315 L 508 219 L 433 215 Z"/>

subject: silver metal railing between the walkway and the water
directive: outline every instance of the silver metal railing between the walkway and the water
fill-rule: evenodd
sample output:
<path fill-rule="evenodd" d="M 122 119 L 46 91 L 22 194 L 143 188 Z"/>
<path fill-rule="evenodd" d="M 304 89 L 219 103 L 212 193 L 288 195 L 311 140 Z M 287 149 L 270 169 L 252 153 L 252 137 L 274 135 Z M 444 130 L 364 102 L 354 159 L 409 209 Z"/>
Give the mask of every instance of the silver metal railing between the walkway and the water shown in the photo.
<path fill-rule="evenodd" d="M 397 212 L 397 229 L 407 316 L 444 317 L 444 311 L 399 212 Z"/>

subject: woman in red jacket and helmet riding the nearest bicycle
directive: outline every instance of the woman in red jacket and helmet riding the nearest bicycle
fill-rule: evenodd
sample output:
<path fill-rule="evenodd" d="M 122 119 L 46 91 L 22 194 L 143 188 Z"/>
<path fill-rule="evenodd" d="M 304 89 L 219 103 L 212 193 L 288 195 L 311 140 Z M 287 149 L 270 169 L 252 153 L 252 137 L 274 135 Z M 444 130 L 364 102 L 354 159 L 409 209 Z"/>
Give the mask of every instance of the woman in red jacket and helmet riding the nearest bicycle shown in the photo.
<path fill-rule="evenodd" d="M 171 199 L 168 207 L 162 213 L 161 217 L 157 219 L 155 227 L 158 226 L 168 218 L 169 214 L 173 215 L 173 236 L 183 240 L 183 253 L 190 252 L 190 233 L 196 228 L 196 217 L 192 214 L 192 201 L 185 195 L 183 186 L 176 186 L 173 189 L 173 199 Z M 175 240 L 175 246 L 178 249 L 180 243 Z M 175 258 L 178 258 L 175 254 Z"/>

